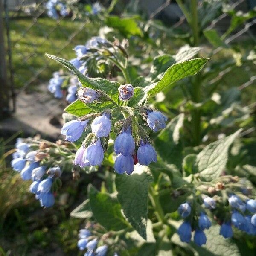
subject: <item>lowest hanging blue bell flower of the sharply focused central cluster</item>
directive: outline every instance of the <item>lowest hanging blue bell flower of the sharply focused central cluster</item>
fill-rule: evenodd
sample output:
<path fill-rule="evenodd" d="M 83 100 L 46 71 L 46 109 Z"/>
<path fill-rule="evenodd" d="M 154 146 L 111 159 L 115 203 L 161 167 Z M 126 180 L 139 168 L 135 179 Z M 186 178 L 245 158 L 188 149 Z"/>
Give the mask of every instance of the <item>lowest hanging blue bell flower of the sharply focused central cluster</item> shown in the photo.
<path fill-rule="evenodd" d="M 114 169 L 118 174 L 123 174 L 126 172 L 128 175 L 130 175 L 134 171 L 133 157 L 130 154 L 127 156 L 119 154 L 116 157 Z"/>

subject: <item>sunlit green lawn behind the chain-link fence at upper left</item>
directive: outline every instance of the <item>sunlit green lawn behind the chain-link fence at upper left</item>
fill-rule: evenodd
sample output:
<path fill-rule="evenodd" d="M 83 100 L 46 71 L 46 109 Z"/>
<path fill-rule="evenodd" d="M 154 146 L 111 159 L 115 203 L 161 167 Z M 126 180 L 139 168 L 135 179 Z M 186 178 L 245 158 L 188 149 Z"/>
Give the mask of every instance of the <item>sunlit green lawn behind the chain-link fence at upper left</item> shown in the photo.
<path fill-rule="evenodd" d="M 73 47 L 83 44 L 88 38 L 97 34 L 95 24 L 63 19 L 58 21 L 48 17 L 40 17 L 35 24 L 28 18 L 10 20 L 10 38 L 12 42 L 12 63 L 15 87 L 20 88 L 32 81 L 32 85 L 48 81 L 52 72 L 60 68 L 59 64 L 50 61 L 45 52 L 62 58 L 75 58 Z M 28 29 L 30 27 L 30 29 Z M 84 26 L 83 29 L 81 29 Z M 54 29 L 54 30 L 53 30 Z M 76 31 L 80 32 L 72 38 Z M 67 46 L 61 50 L 65 44 Z M 41 72 L 42 67 L 45 69 Z M 41 72 L 38 76 L 38 72 Z"/>

